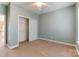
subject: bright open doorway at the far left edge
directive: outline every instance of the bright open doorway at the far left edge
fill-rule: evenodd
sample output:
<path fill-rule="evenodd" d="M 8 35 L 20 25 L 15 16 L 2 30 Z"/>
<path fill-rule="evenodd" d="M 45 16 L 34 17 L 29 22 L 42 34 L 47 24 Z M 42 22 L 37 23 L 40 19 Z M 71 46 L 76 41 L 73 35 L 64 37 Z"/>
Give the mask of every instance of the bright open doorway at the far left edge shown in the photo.
<path fill-rule="evenodd" d="M 0 14 L 0 47 L 6 44 L 6 16 Z"/>

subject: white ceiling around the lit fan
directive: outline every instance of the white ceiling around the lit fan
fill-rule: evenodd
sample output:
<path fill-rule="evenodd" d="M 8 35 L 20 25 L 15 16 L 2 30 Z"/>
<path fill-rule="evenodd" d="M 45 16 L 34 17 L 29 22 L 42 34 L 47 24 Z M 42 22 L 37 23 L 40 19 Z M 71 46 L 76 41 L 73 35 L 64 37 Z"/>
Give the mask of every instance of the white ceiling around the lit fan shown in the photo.
<path fill-rule="evenodd" d="M 44 6 L 42 7 L 41 10 L 39 10 L 38 8 L 32 6 L 32 3 L 33 2 L 14 2 L 14 4 L 23 7 L 27 10 L 33 11 L 34 13 L 37 14 L 43 14 L 43 13 L 55 11 L 75 4 L 74 2 L 45 2 L 48 4 L 48 6 Z M 3 4 L 7 5 L 7 3 L 3 3 Z"/>

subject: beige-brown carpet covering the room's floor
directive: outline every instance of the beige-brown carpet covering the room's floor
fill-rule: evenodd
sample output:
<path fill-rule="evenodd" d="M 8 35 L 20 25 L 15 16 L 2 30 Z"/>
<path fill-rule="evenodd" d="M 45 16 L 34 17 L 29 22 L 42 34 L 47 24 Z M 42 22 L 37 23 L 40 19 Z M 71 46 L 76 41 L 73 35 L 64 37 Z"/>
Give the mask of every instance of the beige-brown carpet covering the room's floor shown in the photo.
<path fill-rule="evenodd" d="M 75 47 L 45 40 L 24 42 L 16 49 L 0 47 L 1 57 L 78 57 Z"/>

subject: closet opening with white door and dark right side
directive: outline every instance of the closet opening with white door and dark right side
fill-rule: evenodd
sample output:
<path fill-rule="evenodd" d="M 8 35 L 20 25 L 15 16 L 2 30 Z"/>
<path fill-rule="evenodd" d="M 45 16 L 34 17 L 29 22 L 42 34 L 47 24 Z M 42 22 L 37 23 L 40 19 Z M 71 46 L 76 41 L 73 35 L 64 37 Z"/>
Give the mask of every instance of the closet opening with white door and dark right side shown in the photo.
<path fill-rule="evenodd" d="M 29 19 L 23 16 L 19 16 L 18 20 L 18 41 L 29 42 Z"/>

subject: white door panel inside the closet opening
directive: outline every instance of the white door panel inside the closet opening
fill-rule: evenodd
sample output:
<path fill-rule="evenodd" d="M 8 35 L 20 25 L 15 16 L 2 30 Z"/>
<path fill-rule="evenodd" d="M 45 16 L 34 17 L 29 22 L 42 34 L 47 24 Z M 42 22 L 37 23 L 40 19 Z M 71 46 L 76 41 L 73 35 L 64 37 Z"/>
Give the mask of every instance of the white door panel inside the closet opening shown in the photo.
<path fill-rule="evenodd" d="M 27 40 L 27 20 L 24 17 L 19 17 L 19 42 Z"/>

